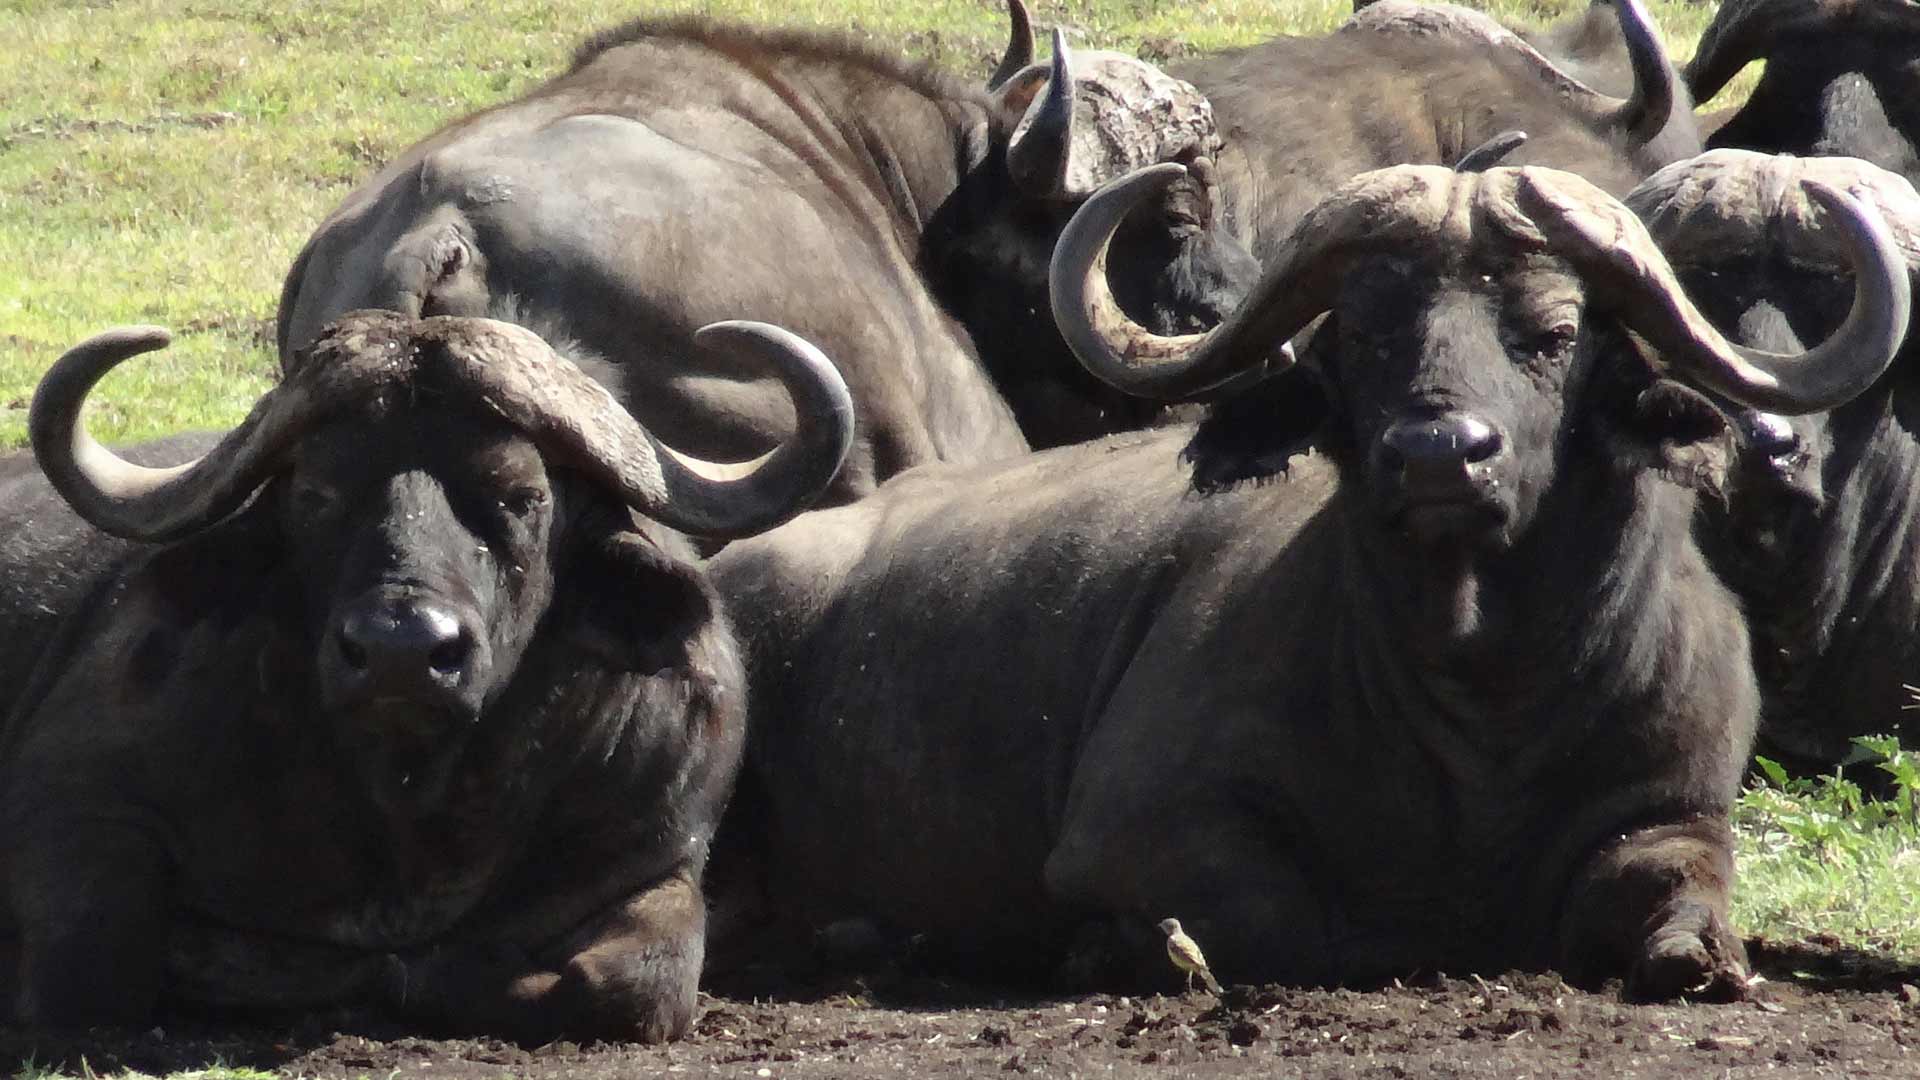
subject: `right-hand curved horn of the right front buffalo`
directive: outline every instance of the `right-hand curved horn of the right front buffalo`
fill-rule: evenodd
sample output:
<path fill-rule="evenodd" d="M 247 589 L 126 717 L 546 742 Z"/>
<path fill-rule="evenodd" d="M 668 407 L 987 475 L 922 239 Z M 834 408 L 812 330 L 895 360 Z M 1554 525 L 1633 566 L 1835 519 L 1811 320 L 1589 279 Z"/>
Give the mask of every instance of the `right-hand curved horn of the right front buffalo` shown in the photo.
<path fill-rule="evenodd" d="M 1845 234 L 1855 271 L 1853 309 L 1812 350 L 1780 356 L 1720 334 L 1686 298 L 1651 236 L 1624 208 L 1617 219 L 1605 219 L 1536 181 L 1526 177 L 1521 192 L 1536 202 L 1532 217 L 1542 229 L 1580 252 L 1588 269 L 1647 300 L 1626 304 L 1620 321 L 1693 380 L 1743 405 L 1786 415 L 1841 405 L 1880 379 L 1907 338 L 1912 311 L 1907 259 L 1880 215 L 1837 188 L 1803 181 L 1807 194 Z"/>

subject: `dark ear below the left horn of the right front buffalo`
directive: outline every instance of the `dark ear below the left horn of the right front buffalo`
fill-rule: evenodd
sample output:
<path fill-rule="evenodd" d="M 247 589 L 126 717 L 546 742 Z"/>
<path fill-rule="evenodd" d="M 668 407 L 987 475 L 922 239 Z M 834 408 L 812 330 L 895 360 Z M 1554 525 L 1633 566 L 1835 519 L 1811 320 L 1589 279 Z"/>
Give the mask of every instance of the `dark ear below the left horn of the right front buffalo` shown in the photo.
<path fill-rule="evenodd" d="M 1194 490 L 1215 494 L 1286 473 L 1329 419 L 1327 390 L 1306 367 L 1290 367 L 1215 402 L 1181 457 L 1194 467 Z"/>

